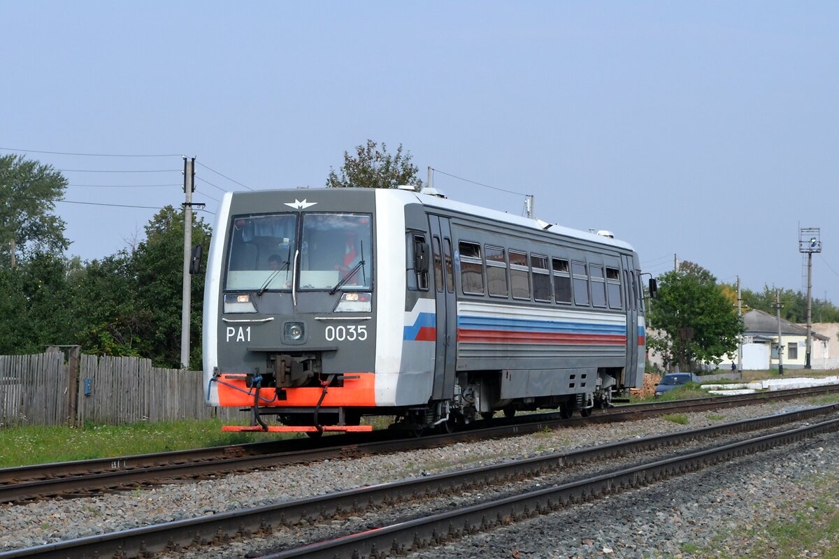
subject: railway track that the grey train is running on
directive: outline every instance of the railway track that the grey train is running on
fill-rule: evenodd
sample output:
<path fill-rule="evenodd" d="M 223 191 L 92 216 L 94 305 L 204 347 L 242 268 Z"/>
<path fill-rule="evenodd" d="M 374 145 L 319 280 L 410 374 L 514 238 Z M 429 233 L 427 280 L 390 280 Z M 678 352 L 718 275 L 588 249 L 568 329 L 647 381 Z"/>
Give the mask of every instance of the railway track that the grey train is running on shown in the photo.
<path fill-rule="evenodd" d="M 325 459 L 357 458 L 370 454 L 437 448 L 452 443 L 511 437 L 560 426 L 632 421 L 664 413 L 688 413 L 743 406 L 765 401 L 819 396 L 835 391 L 839 391 L 839 386 L 776 391 L 759 395 L 634 404 L 595 411 L 591 417 L 572 419 L 562 419 L 557 413 L 519 415 L 512 419 L 496 420 L 492 422 L 492 427 L 485 427 L 489 422 L 476 422 L 474 425 L 477 428 L 469 431 L 430 437 L 404 438 L 399 432 L 380 431 L 373 433 L 372 442 L 369 440 L 370 436 L 362 438 L 354 435 L 340 435 L 319 440 L 291 439 L 184 452 L 3 468 L 0 469 L 0 503 L 20 503 L 57 496 L 81 497 L 108 491 L 136 489 L 138 486 L 169 483 L 174 480 L 208 479 L 220 474 L 242 473 L 291 463 L 313 463 Z"/>

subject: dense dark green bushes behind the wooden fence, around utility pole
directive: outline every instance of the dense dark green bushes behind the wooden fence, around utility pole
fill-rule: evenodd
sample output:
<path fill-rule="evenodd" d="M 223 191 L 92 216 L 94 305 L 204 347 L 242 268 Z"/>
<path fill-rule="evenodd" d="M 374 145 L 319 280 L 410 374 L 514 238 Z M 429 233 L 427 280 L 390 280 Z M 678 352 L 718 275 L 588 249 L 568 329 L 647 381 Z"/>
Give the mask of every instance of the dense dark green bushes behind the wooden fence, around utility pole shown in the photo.
<path fill-rule="evenodd" d="M 79 344 L 85 353 L 136 356 L 180 367 L 184 218 L 167 206 L 133 252 L 81 264 L 35 252 L 0 269 L 0 354 L 39 353 Z M 210 228 L 193 216 L 193 242 L 208 246 Z M 191 278 L 190 366 L 201 368 L 204 276 Z"/>

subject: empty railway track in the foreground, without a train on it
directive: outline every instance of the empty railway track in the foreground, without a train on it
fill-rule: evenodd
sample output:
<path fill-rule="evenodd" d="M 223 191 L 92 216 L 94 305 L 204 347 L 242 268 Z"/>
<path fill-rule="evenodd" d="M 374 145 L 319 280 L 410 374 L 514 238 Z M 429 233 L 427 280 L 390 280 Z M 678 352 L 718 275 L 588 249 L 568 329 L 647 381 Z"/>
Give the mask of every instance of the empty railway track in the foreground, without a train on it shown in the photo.
<path fill-rule="evenodd" d="M 543 476 L 557 469 L 580 463 L 591 463 L 607 457 L 626 456 L 653 448 L 683 444 L 701 438 L 750 432 L 756 429 L 779 427 L 789 422 L 811 422 L 814 418 L 836 416 L 839 405 L 821 406 L 804 411 L 774 415 L 649 437 L 624 443 L 613 443 L 572 453 L 557 453 L 513 463 L 484 468 L 473 468 L 451 474 L 439 474 L 410 479 L 393 484 L 352 489 L 309 499 L 299 499 L 278 505 L 211 515 L 199 519 L 180 520 L 164 525 L 147 526 L 104 536 L 81 538 L 49 546 L 0 553 L 0 559 L 10 557 L 65 557 L 65 556 L 145 556 L 159 551 L 179 552 L 185 547 L 210 545 L 230 539 L 248 539 L 265 535 L 288 525 L 314 525 L 330 519 L 346 519 L 363 515 L 366 510 L 433 495 L 458 493 L 465 489 L 511 484 L 519 479 Z M 736 443 L 725 443 L 715 448 L 690 452 L 675 458 L 656 458 L 649 463 L 621 468 L 609 474 L 599 474 L 571 483 L 530 490 L 524 494 L 491 499 L 477 505 L 450 510 L 425 518 L 411 518 L 373 531 L 341 534 L 335 540 L 321 541 L 294 549 L 272 553 L 271 557 L 381 557 L 391 551 L 403 552 L 412 547 L 438 545 L 480 529 L 490 530 L 533 515 L 544 514 L 573 505 L 597 495 L 648 484 L 671 475 L 692 471 L 730 459 L 743 453 L 759 452 L 777 444 L 789 443 L 819 432 L 839 429 L 835 417 L 815 425 L 785 429 L 769 435 L 748 437 Z M 353 555 L 356 554 L 356 555 Z"/>

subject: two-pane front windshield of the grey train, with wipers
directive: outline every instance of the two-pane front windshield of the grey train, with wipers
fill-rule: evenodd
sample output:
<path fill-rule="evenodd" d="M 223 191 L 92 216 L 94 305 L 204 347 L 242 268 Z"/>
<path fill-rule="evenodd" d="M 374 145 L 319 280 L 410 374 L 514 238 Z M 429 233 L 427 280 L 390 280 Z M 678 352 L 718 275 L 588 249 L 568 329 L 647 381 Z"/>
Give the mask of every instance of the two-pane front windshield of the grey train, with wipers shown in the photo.
<path fill-rule="evenodd" d="M 298 289 L 373 285 L 373 223 L 368 214 L 236 216 L 231 230 L 227 290 L 290 290 L 295 256 Z"/>

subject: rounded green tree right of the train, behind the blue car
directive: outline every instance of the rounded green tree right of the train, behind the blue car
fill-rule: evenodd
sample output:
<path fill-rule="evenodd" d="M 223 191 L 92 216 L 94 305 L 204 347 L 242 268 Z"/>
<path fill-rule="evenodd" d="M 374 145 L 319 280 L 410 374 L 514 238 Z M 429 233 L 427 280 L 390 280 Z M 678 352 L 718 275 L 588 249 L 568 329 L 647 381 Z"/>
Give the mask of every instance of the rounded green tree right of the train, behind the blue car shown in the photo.
<path fill-rule="evenodd" d="M 650 338 L 650 347 L 667 365 L 693 370 L 699 363 L 717 365 L 737 349 L 743 322 L 726 298 L 717 278 L 693 262 L 659 276 L 659 293 L 650 304 L 649 325 L 666 335 Z"/>

